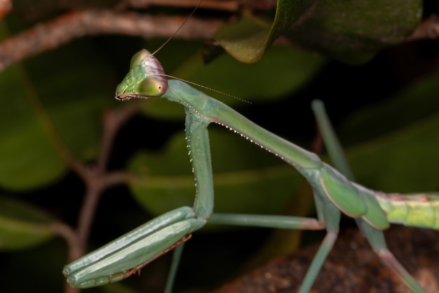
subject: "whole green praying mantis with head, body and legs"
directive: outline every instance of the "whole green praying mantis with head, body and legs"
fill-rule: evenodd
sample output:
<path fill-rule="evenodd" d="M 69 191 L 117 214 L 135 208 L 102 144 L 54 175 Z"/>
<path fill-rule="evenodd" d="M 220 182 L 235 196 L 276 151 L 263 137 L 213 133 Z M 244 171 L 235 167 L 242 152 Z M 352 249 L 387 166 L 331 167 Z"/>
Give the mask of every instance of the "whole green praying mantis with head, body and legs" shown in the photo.
<path fill-rule="evenodd" d="M 301 293 L 309 292 L 337 238 L 343 212 L 356 219 L 374 251 L 412 292 L 424 292 L 387 249 L 382 230 L 389 228 L 390 223 L 439 229 L 437 193 L 386 194 L 353 183 L 335 168 L 322 162 L 317 155 L 266 131 L 224 103 L 185 82 L 167 80 L 158 60 L 148 51 L 142 50 L 133 56 L 130 72 L 116 89 L 116 99 L 152 97 L 166 98 L 184 106 L 187 147 L 196 182 L 194 206 L 180 207 L 158 216 L 65 266 L 63 273 L 72 287 L 94 287 L 122 280 L 187 240 L 188 235 L 210 221 L 239 226 L 326 229 L 326 236 L 299 289 Z M 317 112 L 322 110 L 319 102 L 315 102 L 313 107 Z M 207 129 L 210 123 L 220 124 L 241 134 L 251 143 L 295 167 L 311 185 L 317 219 L 213 214 L 214 190 Z M 344 172 L 348 172 L 347 169 Z"/>

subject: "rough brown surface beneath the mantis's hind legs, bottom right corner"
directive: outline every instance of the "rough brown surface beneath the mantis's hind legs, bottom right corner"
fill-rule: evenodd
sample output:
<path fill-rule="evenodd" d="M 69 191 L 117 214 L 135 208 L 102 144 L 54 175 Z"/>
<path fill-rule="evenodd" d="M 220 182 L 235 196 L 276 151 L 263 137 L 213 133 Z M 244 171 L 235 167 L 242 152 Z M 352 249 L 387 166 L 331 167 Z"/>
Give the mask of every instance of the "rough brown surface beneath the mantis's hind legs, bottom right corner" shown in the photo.
<path fill-rule="evenodd" d="M 389 249 L 426 292 L 439 292 L 439 231 L 392 226 L 386 230 Z M 214 293 L 297 292 L 317 245 L 275 259 L 219 287 Z M 358 229 L 341 233 L 325 261 L 312 293 L 410 292 L 372 252 Z"/>

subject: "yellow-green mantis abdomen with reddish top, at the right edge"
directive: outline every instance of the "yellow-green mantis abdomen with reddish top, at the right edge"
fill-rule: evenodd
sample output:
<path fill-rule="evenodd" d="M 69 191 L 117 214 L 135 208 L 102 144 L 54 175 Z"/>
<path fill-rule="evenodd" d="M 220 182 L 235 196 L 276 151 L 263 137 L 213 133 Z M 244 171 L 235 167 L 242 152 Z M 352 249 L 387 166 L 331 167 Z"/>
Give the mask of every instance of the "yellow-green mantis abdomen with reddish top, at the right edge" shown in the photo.
<path fill-rule="evenodd" d="M 377 192 L 376 195 L 391 223 L 439 230 L 439 193 Z"/>

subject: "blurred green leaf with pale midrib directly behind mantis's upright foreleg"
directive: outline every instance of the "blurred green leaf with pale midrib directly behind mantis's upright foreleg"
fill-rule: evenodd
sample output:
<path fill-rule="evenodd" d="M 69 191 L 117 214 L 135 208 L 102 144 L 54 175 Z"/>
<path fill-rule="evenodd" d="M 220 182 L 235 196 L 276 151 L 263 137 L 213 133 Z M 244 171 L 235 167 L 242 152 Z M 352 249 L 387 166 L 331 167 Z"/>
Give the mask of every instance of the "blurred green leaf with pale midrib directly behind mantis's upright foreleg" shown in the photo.
<path fill-rule="evenodd" d="M 285 202 L 298 187 L 300 177 L 295 169 L 280 164 L 275 156 L 227 131 L 210 129 L 209 136 L 215 211 L 250 214 L 283 211 Z M 130 188 L 136 200 L 151 213 L 163 214 L 176 207 L 193 205 L 194 176 L 184 134 L 175 135 L 161 154 L 135 155 L 128 169 L 142 176 L 131 182 Z"/>

